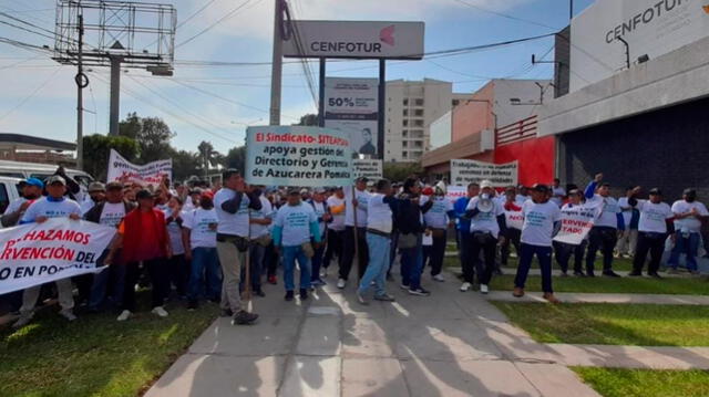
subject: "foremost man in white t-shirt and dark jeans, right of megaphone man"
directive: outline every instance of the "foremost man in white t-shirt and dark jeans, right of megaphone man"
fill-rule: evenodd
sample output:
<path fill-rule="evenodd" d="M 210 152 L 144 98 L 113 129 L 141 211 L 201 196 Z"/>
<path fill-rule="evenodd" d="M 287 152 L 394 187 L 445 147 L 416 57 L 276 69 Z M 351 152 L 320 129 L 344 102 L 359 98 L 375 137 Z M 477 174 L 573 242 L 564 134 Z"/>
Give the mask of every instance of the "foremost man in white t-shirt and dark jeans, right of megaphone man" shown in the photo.
<path fill-rule="evenodd" d="M 556 203 L 549 201 L 549 188 L 546 185 L 535 185 L 532 188 L 532 199 L 522 205 L 524 223 L 522 226 L 520 265 L 514 279 L 513 295 L 524 295 L 524 285 L 532 267 L 532 259 L 536 255 L 542 269 L 542 291 L 544 299 L 558 303 L 552 289 L 552 237 L 554 222 L 559 220 L 561 210 Z"/>

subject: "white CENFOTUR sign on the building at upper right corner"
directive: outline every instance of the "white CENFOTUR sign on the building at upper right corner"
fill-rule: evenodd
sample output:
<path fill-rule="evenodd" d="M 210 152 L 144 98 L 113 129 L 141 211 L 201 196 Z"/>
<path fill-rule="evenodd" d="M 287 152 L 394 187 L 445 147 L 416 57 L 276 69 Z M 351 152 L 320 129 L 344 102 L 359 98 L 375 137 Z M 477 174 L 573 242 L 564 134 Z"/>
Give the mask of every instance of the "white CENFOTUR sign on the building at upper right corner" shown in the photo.
<path fill-rule="evenodd" d="M 658 58 L 709 35 L 709 3 L 596 0 L 572 21 L 571 91 L 610 77 L 639 56 Z"/>

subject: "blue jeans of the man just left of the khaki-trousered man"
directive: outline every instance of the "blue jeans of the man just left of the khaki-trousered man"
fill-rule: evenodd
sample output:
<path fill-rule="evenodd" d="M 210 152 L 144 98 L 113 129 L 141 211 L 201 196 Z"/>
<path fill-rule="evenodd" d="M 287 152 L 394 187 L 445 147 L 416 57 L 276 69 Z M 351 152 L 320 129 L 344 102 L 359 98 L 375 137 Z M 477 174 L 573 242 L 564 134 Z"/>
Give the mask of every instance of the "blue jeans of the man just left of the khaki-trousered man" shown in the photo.
<path fill-rule="evenodd" d="M 192 250 L 192 268 L 189 272 L 189 288 L 187 297 L 199 299 L 206 280 L 206 297 L 218 300 L 222 296 L 222 276 L 219 273 L 219 257 L 216 248 L 197 247 Z"/>

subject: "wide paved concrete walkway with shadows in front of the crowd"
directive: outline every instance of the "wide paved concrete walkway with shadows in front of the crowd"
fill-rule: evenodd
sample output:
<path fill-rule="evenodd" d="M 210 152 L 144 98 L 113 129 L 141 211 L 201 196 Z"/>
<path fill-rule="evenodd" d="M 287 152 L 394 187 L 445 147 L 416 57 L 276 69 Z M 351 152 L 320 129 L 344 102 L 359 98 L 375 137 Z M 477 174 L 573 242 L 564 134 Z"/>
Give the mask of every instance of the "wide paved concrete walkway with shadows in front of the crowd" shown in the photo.
<path fill-rule="evenodd" d="M 456 282 L 362 306 L 329 281 L 305 304 L 268 285 L 258 324 L 217 320 L 146 396 L 598 396 Z"/>

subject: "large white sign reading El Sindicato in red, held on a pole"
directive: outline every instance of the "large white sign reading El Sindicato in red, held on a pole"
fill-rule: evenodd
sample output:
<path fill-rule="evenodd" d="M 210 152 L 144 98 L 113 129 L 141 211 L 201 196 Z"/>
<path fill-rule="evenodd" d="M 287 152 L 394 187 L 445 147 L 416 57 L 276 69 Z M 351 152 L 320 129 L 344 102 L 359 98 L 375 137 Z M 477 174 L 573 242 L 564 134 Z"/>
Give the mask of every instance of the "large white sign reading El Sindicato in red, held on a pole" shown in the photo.
<path fill-rule="evenodd" d="M 246 129 L 246 181 L 265 186 L 348 186 L 352 153 L 347 134 L 300 126 Z"/>

